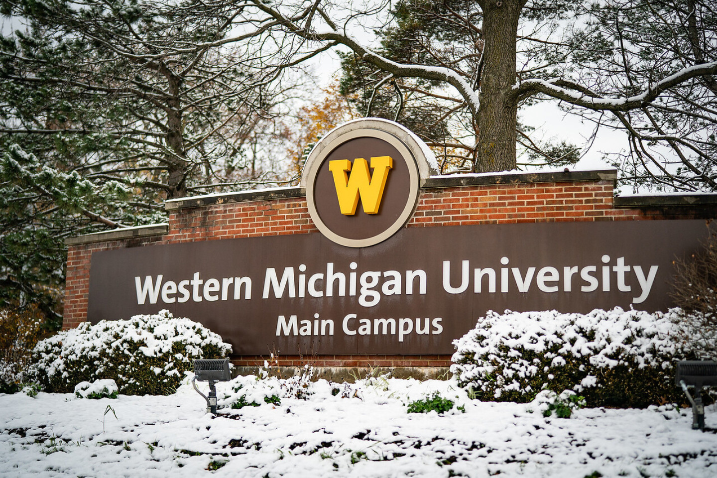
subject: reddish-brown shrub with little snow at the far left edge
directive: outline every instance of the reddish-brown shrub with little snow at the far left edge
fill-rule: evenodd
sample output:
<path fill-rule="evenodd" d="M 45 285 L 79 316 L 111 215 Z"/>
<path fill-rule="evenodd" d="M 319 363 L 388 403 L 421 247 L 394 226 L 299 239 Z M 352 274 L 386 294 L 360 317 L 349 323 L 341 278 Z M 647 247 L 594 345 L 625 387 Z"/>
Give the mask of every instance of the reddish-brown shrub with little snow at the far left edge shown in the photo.
<path fill-rule="evenodd" d="M 0 393 L 22 390 L 32 348 L 42 334 L 41 312 L 35 307 L 0 310 Z"/>

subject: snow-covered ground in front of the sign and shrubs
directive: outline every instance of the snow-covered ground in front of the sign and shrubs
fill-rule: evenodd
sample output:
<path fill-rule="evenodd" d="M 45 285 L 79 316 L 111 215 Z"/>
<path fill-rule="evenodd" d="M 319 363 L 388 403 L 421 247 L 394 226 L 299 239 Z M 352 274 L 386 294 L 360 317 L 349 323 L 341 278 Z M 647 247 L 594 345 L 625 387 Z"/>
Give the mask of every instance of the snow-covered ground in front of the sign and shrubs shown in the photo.
<path fill-rule="evenodd" d="M 251 384 L 271 380 L 220 383 L 219 397 L 236 398 L 239 383 L 252 401 Z M 712 406 L 702 432 L 691 429 L 689 410 L 584 408 L 545 418 L 538 403 L 470 400 L 452 381 L 318 381 L 305 391 L 308 399 L 217 417 L 189 384 L 171 396 L 98 400 L 0 394 L 0 476 L 717 476 Z M 407 413 L 435 391 L 455 402 L 452 411 Z"/>

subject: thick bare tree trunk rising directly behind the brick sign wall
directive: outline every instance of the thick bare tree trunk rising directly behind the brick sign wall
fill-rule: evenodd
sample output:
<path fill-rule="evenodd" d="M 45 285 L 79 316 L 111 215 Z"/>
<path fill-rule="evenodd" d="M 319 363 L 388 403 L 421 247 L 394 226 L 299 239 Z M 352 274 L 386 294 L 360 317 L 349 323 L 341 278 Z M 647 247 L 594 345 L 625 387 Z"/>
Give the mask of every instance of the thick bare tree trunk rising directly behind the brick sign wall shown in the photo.
<path fill-rule="evenodd" d="M 480 0 L 483 9 L 483 72 L 478 110 L 478 158 L 474 171 L 516 168 L 516 36 L 525 0 Z"/>

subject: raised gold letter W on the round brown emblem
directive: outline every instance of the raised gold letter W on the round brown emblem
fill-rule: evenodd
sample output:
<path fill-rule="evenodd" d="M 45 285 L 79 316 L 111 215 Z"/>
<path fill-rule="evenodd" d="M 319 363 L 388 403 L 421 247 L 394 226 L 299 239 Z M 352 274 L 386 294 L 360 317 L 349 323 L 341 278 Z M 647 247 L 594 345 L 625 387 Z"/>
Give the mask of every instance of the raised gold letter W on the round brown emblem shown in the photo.
<path fill-rule="evenodd" d="M 328 162 L 328 169 L 333 173 L 333 183 L 336 186 L 336 196 L 341 214 L 353 216 L 356 214 L 356 206 L 364 206 L 366 214 L 377 214 L 381 206 L 381 197 L 386 188 L 386 179 L 389 177 L 389 169 L 394 167 L 394 160 L 391 156 L 376 156 L 371 158 L 371 169 L 374 176 L 369 173 L 369 163 L 364 158 L 356 158 L 353 161 L 348 159 L 335 159 Z M 351 171 L 351 176 L 348 176 Z"/>

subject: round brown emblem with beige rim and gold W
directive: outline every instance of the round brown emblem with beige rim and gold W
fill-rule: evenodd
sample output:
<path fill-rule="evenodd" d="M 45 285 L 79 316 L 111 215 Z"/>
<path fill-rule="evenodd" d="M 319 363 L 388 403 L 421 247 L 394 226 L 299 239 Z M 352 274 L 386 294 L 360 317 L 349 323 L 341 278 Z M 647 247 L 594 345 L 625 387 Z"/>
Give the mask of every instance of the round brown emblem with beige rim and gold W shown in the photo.
<path fill-rule="evenodd" d="M 419 142 L 401 125 L 379 119 L 349 122 L 322 138 L 301 180 L 321 234 L 346 247 L 373 246 L 396 234 L 430 173 Z"/>

